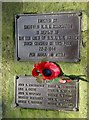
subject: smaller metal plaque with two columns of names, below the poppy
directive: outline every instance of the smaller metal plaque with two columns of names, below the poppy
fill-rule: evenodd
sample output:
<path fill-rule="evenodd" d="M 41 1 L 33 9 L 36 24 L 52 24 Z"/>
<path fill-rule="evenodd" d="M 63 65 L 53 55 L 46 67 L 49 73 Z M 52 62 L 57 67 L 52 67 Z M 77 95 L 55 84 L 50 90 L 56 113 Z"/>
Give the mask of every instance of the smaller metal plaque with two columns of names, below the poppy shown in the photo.
<path fill-rule="evenodd" d="M 77 111 L 78 82 L 38 83 L 32 76 L 17 76 L 15 79 L 15 104 L 21 108 Z"/>

